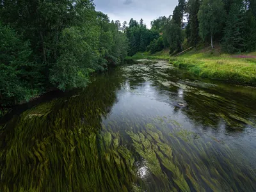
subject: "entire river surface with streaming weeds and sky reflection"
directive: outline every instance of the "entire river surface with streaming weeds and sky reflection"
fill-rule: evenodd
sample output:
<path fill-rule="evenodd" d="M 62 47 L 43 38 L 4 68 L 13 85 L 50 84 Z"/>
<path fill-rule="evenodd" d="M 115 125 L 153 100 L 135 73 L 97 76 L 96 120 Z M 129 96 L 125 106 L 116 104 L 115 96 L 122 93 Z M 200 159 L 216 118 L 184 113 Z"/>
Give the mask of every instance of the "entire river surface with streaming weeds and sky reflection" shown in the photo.
<path fill-rule="evenodd" d="M 0 191 L 256 191 L 255 162 L 256 88 L 166 61 L 109 70 L 0 125 Z"/>

